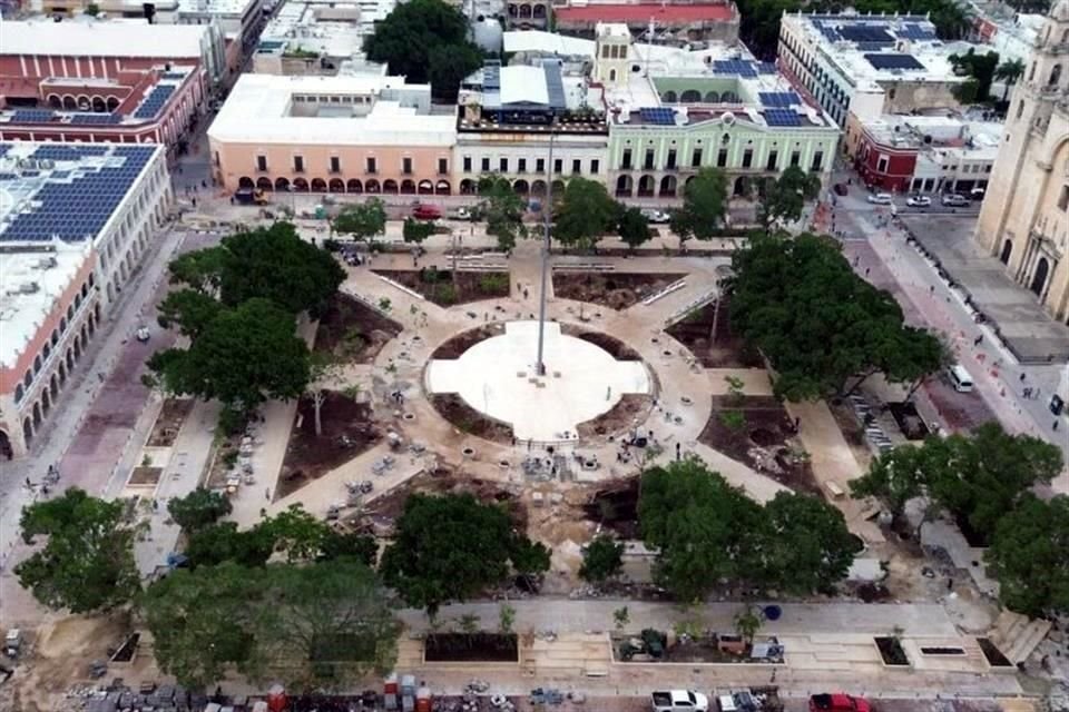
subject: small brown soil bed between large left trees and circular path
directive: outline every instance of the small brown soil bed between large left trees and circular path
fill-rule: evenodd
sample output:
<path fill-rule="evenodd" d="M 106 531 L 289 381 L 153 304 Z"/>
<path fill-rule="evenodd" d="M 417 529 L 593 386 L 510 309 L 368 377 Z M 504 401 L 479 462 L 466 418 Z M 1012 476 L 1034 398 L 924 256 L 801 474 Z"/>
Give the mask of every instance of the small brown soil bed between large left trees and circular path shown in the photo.
<path fill-rule="evenodd" d="M 351 364 L 370 364 L 401 325 L 359 299 L 336 293 L 315 332 L 315 350 Z"/>

